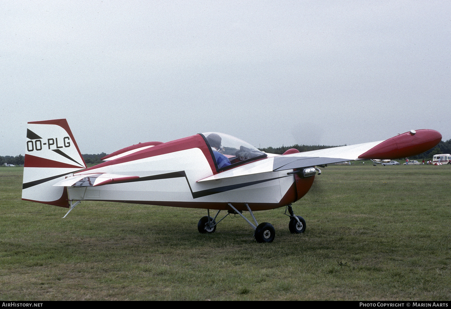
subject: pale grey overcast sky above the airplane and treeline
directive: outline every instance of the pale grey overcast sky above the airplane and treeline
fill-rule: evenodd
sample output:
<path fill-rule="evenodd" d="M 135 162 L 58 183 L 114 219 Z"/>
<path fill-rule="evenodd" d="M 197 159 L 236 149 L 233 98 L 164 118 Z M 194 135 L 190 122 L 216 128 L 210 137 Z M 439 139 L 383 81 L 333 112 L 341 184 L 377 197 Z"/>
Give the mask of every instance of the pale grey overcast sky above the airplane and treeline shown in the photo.
<path fill-rule="evenodd" d="M 451 139 L 450 1 L 1 1 L 0 155 L 66 118 L 82 153 L 217 131 Z"/>

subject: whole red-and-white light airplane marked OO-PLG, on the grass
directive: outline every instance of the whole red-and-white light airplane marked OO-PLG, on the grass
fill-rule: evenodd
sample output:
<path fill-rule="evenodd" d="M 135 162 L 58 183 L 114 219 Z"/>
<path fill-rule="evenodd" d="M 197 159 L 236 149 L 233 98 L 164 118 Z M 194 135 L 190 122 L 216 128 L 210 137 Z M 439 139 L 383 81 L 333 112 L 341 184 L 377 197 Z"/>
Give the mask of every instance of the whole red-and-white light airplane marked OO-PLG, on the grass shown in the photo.
<path fill-rule="evenodd" d="M 422 129 L 385 141 L 275 155 L 230 135 L 208 132 L 167 143 L 139 143 L 86 168 L 65 119 L 28 122 L 22 199 L 70 208 L 64 217 L 83 200 L 203 208 L 207 216 L 198 222 L 200 233 L 215 232 L 233 213 L 252 226 L 258 242 L 272 242 L 274 227 L 258 224 L 253 212 L 285 207 L 290 231 L 303 233 L 305 220 L 294 214 L 291 204 L 321 174 L 316 166 L 410 157 L 441 140 L 437 131 Z M 217 210 L 214 217 L 210 209 Z M 221 211 L 227 214 L 217 220 Z M 249 211 L 253 222 L 243 211 Z"/>

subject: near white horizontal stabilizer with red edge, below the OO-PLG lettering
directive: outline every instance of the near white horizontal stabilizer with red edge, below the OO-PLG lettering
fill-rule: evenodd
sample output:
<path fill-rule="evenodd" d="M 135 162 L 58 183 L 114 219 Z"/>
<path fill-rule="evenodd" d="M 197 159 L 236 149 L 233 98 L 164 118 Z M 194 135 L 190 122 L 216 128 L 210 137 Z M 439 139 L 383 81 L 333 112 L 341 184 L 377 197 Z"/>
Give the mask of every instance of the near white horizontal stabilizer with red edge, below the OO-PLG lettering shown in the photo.
<path fill-rule="evenodd" d="M 95 173 L 69 176 L 54 184 L 57 187 L 96 187 L 105 184 L 114 184 L 123 181 L 138 179 L 139 176 L 115 175 L 108 173 Z"/>

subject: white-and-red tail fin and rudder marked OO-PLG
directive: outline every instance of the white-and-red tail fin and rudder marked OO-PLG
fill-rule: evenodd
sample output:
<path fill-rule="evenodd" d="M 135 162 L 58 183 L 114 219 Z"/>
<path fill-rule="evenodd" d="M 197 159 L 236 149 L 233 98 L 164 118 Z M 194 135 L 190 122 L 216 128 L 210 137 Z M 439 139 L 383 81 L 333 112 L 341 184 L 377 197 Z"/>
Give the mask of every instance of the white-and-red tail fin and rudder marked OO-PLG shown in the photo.
<path fill-rule="evenodd" d="M 22 199 L 69 207 L 67 188 L 53 184 L 86 168 L 65 119 L 28 122 Z"/>

